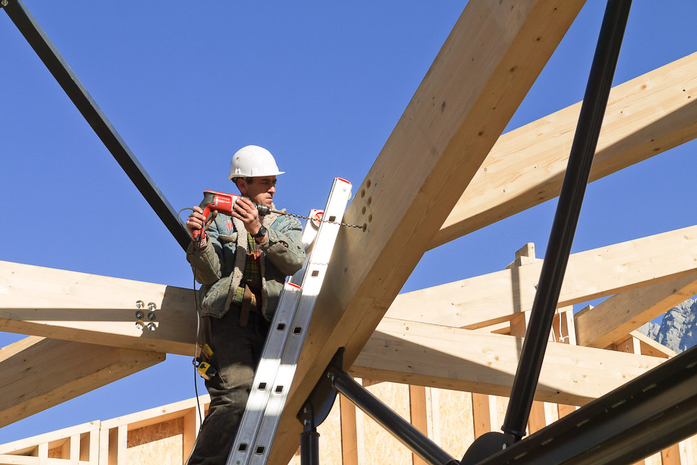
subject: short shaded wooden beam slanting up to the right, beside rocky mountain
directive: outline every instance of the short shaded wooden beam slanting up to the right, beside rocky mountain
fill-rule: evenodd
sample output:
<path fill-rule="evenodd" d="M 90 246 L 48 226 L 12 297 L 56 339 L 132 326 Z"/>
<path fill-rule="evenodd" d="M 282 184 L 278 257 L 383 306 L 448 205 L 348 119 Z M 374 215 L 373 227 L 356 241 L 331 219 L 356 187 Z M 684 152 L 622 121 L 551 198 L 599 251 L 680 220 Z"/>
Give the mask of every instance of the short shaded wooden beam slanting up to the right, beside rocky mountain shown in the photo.
<path fill-rule="evenodd" d="M 697 294 L 697 275 L 616 294 L 574 315 L 579 345 L 607 347 Z"/>

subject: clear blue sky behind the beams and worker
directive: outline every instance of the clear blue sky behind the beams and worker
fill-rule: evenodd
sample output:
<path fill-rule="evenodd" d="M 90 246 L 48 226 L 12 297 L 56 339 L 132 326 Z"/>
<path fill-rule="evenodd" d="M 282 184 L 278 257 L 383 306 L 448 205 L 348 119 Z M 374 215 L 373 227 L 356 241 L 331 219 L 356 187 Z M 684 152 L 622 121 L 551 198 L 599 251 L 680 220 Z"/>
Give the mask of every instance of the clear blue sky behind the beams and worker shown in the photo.
<path fill-rule="evenodd" d="M 231 154 L 273 152 L 276 203 L 323 207 L 332 178 L 360 184 L 466 2 L 24 0 L 176 210 L 231 191 Z M 588 0 L 512 118 L 578 102 L 604 11 Z M 635 0 L 615 84 L 696 51 L 697 2 Z M 192 286 L 180 246 L 0 13 L 0 260 Z M 694 142 L 590 184 L 573 251 L 694 224 Z M 404 290 L 503 269 L 556 200 L 430 251 Z M 0 333 L 0 346 L 23 336 Z M 0 429 L 0 443 L 194 396 L 167 361 Z M 202 386 L 202 384 L 201 384 Z"/>

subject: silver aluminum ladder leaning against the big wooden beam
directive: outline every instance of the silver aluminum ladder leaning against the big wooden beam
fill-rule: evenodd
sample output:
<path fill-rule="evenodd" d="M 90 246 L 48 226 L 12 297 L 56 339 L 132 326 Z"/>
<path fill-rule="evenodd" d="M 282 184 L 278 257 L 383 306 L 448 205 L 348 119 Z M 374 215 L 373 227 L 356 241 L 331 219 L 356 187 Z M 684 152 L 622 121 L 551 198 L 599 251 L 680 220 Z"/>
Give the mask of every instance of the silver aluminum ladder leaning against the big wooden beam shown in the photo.
<path fill-rule="evenodd" d="M 319 227 L 310 219 L 305 223 L 302 242 L 308 258 L 279 299 L 227 465 L 259 465 L 268 460 L 350 198 L 351 183 L 335 178 Z M 309 218 L 319 219 L 319 210 L 310 212 Z"/>

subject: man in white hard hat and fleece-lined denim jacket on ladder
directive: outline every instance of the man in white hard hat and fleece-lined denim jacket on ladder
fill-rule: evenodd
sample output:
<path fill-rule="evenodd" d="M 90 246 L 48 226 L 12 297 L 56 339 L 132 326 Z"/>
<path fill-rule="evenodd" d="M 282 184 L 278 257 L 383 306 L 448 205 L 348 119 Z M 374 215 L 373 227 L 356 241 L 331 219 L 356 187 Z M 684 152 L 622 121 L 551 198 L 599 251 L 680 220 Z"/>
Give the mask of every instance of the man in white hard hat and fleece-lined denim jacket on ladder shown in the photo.
<path fill-rule="evenodd" d="M 204 239 L 192 240 L 187 260 L 202 284 L 203 340 L 217 370 L 206 380 L 210 409 L 190 465 L 226 462 L 284 281 L 305 261 L 300 221 L 274 213 L 260 217 L 254 205 L 275 210 L 276 176 L 283 173 L 268 150 L 241 148 L 230 165 L 230 180 L 243 196 L 232 216 L 214 213 L 206 223 L 194 207 L 186 222 L 192 236 L 206 225 Z"/>

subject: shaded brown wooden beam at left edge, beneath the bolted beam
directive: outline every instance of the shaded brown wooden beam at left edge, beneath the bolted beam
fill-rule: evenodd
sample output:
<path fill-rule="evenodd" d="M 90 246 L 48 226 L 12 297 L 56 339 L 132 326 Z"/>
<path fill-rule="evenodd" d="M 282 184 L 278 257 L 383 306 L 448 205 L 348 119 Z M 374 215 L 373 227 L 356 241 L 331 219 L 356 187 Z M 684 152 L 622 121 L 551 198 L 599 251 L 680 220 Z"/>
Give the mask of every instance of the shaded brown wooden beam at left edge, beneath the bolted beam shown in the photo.
<path fill-rule="evenodd" d="M 0 349 L 0 427 L 164 360 L 164 354 L 30 336 Z"/>

